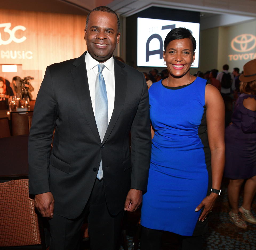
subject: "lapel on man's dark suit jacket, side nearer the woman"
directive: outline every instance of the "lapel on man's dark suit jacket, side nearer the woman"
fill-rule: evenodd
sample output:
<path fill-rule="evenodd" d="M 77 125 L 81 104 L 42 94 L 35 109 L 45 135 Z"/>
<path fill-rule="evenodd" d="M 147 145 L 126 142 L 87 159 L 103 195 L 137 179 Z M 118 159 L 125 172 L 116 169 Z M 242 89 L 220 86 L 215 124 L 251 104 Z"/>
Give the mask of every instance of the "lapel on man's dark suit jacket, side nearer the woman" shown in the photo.
<path fill-rule="evenodd" d="M 124 65 L 119 62 L 117 59 L 114 58 L 114 69 L 115 69 L 115 103 L 114 103 L 114 109 L 111 116 L 111 119 L 109 121 L 109 125 L 107 127 L 107 131 L 105 133 L 105 136 L 103 138 L 102 144 L 107 140 L 109 137 L 111 131 L 113 130 L 117 119 L 121 113 L 121 110 L 123 108 L 123 104 L 125 101 L 125 95 L 126 95 L 126 87 L 127 87 L 127 74 L 122 69 Z"/>

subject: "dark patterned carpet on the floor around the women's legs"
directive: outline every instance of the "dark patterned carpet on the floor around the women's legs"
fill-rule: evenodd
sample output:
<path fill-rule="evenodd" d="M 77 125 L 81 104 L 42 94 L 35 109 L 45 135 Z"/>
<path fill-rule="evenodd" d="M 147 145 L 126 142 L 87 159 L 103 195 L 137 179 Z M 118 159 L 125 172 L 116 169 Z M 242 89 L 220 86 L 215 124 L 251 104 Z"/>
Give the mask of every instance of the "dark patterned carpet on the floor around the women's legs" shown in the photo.
<path fill-rule="evenodd" d="M 211 217 L 209 218 L 209 232 L 203 242 L 204 250 L 240 250 L 256 249 L 256 224 L 247 223 L 247 229 L 236 227 L 229 219 L 229 203 L 227 198 L 227 179 L 223 180 L 223 195 L 218 198 Z M 242 191 L 240 204 L 242 204 Z M 252 212 L 256 216 L 256 198 L 254 197 Z M 133 236 L 136 227 L 127 227 L 128 249 L 133 250 Z M 167 233 L 163 236 L 161 249 L 178 250 L 177 235 Z M 120 248 L 123 250 L 124 248 Z M 189 250 L 189 249 L 188 249 Z"/>

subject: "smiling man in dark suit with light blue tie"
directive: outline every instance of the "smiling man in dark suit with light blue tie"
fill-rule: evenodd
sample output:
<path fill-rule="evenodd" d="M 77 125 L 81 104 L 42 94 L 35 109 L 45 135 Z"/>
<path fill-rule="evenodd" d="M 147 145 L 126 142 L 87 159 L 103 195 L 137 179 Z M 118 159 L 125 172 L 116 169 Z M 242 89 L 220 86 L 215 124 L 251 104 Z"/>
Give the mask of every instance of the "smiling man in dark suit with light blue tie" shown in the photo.
<path fill-rule="evenodd" d="M 78 249 L 85 218 L 91 249 L 116 249 L 123 210 L 135 211 L 146 191 L 147 85 L 142 73 L 113 57 L 119 36 L 113 10 L 92 10 L 85 28 L 87 52 L 48 66 L 38 92 L 29 136 L 29 192 L 49 218 L 50 250 Z M 103 137 L 95 120 L 98 74 L 105 80 L 108 105 Z"/>

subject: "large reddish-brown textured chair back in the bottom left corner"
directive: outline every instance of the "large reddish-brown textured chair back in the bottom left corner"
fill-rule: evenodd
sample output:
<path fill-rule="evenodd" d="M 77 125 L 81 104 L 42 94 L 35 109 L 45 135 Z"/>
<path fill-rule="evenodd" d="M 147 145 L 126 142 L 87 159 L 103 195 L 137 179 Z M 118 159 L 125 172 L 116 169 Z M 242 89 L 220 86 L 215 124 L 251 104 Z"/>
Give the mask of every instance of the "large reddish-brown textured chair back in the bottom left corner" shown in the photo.
<path fill-rule="evenodd" d="M 41 244 L 28 179 L 0 183 L 0 247 Z"/>

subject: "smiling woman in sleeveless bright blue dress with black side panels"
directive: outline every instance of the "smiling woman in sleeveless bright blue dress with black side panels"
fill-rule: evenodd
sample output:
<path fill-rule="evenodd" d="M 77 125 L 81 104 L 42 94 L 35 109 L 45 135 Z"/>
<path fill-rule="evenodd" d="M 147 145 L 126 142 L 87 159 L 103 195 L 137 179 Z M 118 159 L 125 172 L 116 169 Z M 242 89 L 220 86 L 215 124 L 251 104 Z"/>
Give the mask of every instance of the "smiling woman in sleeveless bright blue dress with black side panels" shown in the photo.
<path fill-rule="evenodd" d="M 182 249 L 201 249 L 221 192 L 224 103 L 217 88 L 190 74 L 195 48 L 189 30 L 171 30 L 163 52 L 170 75 L 149 89 L 153 139 L 141 250 L 160 249 L 163 231 L 181 235 Z"/>

